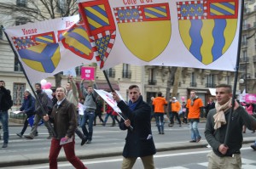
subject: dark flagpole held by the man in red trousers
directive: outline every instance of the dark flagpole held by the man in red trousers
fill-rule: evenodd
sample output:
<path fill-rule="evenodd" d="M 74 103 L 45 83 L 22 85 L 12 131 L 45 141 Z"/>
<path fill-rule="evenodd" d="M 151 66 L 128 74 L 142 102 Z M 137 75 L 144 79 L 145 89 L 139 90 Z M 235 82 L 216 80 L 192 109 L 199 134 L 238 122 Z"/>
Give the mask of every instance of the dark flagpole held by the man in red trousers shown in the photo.
<path fill-rule="evenodd" d="M 19 64 L 20 64 L 21 70 L 23 71 L 23 74 L 24 74 L 24 76 L 26 77 L 26 81 L 27 81 L 29 87 L 31 87 L 32 93 L 34 94 L 35 98 L 36 98 L 37 101 L 38 101 L 38 104 L 39 104 L 39 106 L 40 106 L 40 109 L 41 109 L 41 111 L 43 112 L 43 115 L 46 115 L 47 113 L 45 112 L 42 103 L 39 101 L 38 95 L 37 95 L 37 94 L 35 93 L 35 91 L 33 90 L 32 84 L 31 84 L 31 82 L 30 82 L 28 76 L 26 75 L 26 71 L 24 70 L 24 67 L 23 67 L 23 65 L 22 65 L 21 62 L 20 62 L 20 59 L 19 59 L 19 57 L 18 57 L 18 54 L 17 54 L 16 51 L 15 51 L 15 48 L 13 47 L 12 43 L 10 42 L 9 37 L 7 36 L 7 33 L 4 31 L 3 25 L 1 25 L 1 27 L 2 27 L 2 30 L 3 30 L 3 32 L 4 32 L 5 37 L 7 38 L 8 42 L 9 42 L 9 45 L 10 45 L 10 47 L 11 47 L 13 53 L 15 54 L 15 57 L 17 58 L 17 60 L 18 60 L 18 62 L 19 62 Z M 44 118 L 42 118 L 42 119 L 44 120 Z M 53 137 L 56 137 L 57 135 L 56 135 L 56 133 L 55 133 L 54 128 L 51 126 L 50 122 L 49 122 L 49 121 L 44 121 L 44 123 L 50 128 Z"/>

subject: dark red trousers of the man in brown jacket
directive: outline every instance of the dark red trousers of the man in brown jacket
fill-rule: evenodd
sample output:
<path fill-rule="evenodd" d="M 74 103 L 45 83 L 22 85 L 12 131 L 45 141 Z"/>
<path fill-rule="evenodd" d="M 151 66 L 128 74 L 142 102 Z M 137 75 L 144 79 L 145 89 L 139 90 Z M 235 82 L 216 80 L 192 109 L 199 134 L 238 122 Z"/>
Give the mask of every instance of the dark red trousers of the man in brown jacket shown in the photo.
<path fill-rule="evenodd" d="M 69 161 L 75 168 L 87 169 L 83 162 L 79 160 L 79 157 L 75 155 L 74 152 L 74 139 L 73 142 L 68 144 L 60 145 L 60 139 L 51 139 L 50 149 L 49 149 L 49 169 L 57 169 L 57 158 L 60 154 L 61 148 L 63 146 L 67 161 Z"/>

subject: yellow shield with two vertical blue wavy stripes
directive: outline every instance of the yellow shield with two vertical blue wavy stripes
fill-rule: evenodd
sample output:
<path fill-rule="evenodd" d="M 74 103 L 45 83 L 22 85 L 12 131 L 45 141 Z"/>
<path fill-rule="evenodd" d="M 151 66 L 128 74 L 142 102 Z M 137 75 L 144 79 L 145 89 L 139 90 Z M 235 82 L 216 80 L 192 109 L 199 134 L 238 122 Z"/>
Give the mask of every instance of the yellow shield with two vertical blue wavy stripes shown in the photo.
<path fill-rule="evenodd" d="M 177 2 L 180 36 L 190 54 L 209 65 L 230 48 L 236 35 L 237 0 Z"/>

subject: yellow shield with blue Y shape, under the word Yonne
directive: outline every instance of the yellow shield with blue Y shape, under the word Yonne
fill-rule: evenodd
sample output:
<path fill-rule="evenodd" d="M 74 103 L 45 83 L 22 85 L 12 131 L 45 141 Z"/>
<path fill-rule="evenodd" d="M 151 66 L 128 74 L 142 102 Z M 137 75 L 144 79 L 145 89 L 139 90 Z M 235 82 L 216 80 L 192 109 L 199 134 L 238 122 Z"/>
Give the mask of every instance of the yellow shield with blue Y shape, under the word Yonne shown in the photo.
<path fill-rule="evenodd" d="M 52 73 L 61 59 L 59 44 L 54 32 L 28 37 L 12 37 L 22 61 L 32 68 Z"/>

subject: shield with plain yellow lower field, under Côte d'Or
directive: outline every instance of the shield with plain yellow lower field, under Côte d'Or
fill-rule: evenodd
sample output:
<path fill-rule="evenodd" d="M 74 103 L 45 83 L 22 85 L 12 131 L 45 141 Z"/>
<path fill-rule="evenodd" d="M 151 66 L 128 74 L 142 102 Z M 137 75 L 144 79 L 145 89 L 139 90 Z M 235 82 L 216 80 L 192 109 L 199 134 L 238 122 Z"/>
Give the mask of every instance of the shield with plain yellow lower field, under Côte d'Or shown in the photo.
<path fill-rule="evenodd" d="M 168 3 L 113 10 L 125 46 L 137 58 L 150 61 L 165 50 L 172 32 Z"/>

